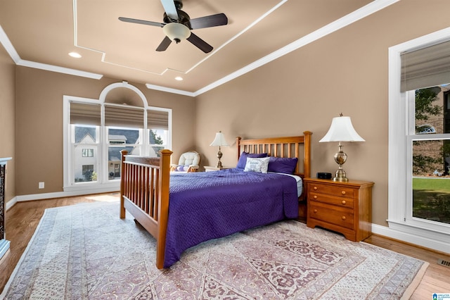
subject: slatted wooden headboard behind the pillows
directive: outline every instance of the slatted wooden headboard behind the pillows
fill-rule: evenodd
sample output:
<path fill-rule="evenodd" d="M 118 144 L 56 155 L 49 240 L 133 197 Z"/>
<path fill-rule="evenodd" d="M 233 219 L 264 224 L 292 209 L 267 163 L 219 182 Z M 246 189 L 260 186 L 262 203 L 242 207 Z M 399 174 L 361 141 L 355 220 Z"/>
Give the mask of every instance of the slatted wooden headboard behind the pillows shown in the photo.
<path fill-rule="evenodd" d="M 305 131 L 299 137 L 267 137 L 264 139 L 242 139 L 236 137 L 238 161 L 242 151 L 248 153 L 266 153 L 269 156 L 298 158 L 295 175 L 311 177 L 311 135 Z M 303 154 L 301 156 L 300 154 Z"/>

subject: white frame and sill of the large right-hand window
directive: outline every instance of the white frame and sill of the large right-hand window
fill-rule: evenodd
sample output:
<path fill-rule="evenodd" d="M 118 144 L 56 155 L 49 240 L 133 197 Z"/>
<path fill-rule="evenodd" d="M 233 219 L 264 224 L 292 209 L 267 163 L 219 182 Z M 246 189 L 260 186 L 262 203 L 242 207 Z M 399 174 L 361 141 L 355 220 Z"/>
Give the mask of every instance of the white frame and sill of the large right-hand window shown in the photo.
<path fill-rule="evenodd" d="M 401 54 L 424 46 L 450 40 L 450 27 L 433 32 L 389 49 L 389 184 L 388 218 L 391 237 L 427 248 L 450 253 L 450 226 L 412 218 L 412 141 L 430 139 L 413 135 L 411 122 L 414 106 L 413 92 L 401 91 Z M 412 99 L 412 100 L 411 100 Z M 411 104 L 411 105 L 410 105 Z M 412 110 L 412 111 L 411 111 Z M 433 135 L 434 139 L 447 139 L 449 135 Z"/>

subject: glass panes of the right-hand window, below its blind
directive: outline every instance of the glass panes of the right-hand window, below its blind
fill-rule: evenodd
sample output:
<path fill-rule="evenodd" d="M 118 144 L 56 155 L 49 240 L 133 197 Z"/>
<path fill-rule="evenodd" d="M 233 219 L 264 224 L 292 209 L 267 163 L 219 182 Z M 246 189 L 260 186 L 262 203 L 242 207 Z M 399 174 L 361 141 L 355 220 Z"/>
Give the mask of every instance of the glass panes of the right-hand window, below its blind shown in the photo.
<path fill-rule="evenodd" d="M 449 78 L 450 80 L 450 78 Z M 446 85 L 416 89 L 406 94 L 411 98 L 408 148 L 411 159 L 411 185 L 407 185 L 411 220 L 450 224 L 450 135 L 445 128 Z"/>

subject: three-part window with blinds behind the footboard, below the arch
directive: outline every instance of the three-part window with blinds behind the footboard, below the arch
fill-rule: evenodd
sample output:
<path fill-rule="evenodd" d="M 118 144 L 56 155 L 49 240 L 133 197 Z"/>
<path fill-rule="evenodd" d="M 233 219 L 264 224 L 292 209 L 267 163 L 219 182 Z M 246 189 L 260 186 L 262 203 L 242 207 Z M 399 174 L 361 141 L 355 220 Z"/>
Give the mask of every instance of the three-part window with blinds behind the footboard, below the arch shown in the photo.
<path fill-rule="evenodd" d="M 117 190 L 120 151 L 158 156 L 171 146 L 172 110 L 147 106 L 143 95 L 141 99 L 142 106 L 134 106 L 64 97 L 65 191 Z"/>

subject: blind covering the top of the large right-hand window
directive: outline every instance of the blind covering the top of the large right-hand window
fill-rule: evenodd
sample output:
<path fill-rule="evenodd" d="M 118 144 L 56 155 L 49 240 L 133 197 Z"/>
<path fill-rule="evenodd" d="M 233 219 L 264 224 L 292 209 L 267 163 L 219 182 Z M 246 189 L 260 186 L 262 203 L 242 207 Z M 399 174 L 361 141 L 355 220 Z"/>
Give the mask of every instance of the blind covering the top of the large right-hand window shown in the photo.
<path fill-rule="evenodd" d="M 401 54 L 401 92 L 450 83 L 450 41 Z"/>

